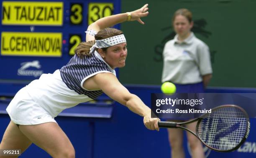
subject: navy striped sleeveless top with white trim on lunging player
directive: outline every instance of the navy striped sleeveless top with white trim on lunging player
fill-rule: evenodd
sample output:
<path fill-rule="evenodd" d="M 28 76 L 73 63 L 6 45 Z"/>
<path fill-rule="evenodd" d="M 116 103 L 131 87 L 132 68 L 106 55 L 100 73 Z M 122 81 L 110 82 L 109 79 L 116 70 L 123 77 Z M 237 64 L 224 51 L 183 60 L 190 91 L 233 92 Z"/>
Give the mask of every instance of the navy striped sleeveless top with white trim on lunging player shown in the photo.
<path fill-rule="evenodd" d="M 82 88 L 82 82 L 85 79 L 100 72 L 112 72 L 109 66 L 103 61 L 100 55 L 95 51 L 90 56 L 79 58 L 76 54 L 69 60 L 67 65 L 60 69 L 61 78 L 67 87 L 78 94 L 84 94 L 95 99 L 103 93 L 102 90 L 85 90 Z"/>

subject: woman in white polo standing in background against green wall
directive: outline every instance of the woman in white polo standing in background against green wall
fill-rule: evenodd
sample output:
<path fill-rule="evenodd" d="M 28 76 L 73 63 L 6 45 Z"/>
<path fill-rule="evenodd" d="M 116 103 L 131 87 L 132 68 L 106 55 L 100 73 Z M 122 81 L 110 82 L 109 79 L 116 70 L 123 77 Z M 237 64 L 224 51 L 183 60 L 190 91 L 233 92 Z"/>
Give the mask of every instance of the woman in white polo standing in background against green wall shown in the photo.
<path fill-rule="evenodd" d="M 172 24 L 177 35 L 164 46 L 164 68 L 162 83 L 172 82 L 177 93 L 203 93 L 212 78 L 212 67 L 208 46 L 191 32 L 192 13 L 179 9 L 174 13 Z M 195 131 L 195 123 L 188 128 Z M 183 132 L 181 129 L 168 129 L 172 158 L 184 158 Z M 204 158 L 200 140 L 187 132 L 192 158 Z"/>

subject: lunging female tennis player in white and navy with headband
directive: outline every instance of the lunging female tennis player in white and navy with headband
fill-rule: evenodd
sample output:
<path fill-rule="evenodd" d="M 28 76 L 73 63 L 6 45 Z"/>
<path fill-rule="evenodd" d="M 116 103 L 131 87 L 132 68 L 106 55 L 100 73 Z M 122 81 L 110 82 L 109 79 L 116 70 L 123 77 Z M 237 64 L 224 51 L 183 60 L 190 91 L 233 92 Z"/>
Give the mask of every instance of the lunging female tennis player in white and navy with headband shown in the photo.
<path fill-rule="evenodd" d="M 34 143 L 54 158 L 74 158 L 74 147 L 54 117 L 103 92 L 141 115 L 146 128 L 159 130 L 158 119 L 151 118 L 151 109 L 116 78 L 114 69 L 125 66 L 127 44 L 122 31 L 108 28 L 125 21 L 144 24 L 141 18 L 147 15 L 146 4 L 133 12 L 111 15 L 89 25 L 86 42 L 79 44 L 67 65 L 53 74 L 41 75 L 15 95 L 6 109 L 11 121 L 0 149 L 24 152 Z"/>

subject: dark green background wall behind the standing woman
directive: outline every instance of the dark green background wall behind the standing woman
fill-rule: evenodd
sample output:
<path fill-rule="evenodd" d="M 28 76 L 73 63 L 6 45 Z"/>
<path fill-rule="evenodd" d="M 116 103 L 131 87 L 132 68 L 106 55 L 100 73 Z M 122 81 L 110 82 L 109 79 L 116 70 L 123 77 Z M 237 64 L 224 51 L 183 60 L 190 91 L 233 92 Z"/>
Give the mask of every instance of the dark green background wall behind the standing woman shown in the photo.
<path fill-rule="evenodd" d="M 123 0 L 122 12 L 149 4 L 146 25 L 121 24 L 128 41 L 125 84 L 160 85 L 162 49 L 174 36 L 172 15 L 179 8 L 193 13 L 193 32 L 210 47 L 210 86 L 256 87 L 256 0 Z"/>

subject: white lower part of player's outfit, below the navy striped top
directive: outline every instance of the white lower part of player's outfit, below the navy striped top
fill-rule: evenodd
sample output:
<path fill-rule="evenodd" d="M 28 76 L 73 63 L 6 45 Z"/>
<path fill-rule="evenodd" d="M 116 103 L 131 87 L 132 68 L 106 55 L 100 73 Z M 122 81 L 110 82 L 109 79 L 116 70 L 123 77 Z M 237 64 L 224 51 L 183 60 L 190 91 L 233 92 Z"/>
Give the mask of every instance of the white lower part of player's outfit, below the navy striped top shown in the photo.
<path fill-rule="evenodd" d="M 66 108 L 92 100 L 70 90 L 62 81 L 60 71 L 43 74 L 22 88 L 10 102 L 6 111 L 18 125 L 37 125 L 55 122 L 54 118 Z"/>

